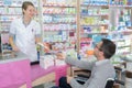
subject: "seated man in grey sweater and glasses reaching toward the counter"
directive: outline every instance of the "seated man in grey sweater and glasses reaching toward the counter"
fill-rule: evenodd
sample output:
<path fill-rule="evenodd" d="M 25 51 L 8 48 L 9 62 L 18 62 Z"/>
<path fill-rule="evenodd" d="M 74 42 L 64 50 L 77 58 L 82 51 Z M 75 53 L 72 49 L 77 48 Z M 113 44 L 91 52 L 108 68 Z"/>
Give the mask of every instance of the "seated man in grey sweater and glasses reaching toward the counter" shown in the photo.
<path fill-rule="evenodd" d="M 74 77 L 62 77 L 59 87 L 53 88 L 105 88 L 108 78 L 116 77 L 116 70 L 110 62 L 110 57 L 116 53 L 116 44 L 110 40 L 102 38 L 94 50 L 97 62 L 85 62 L 66 57 L 57 54 L 57 58 L 65 59 L 69 65 L 77 66 L 82 69 L 91 70 L 89 79 L 84 84 L 79 84 Z"/>

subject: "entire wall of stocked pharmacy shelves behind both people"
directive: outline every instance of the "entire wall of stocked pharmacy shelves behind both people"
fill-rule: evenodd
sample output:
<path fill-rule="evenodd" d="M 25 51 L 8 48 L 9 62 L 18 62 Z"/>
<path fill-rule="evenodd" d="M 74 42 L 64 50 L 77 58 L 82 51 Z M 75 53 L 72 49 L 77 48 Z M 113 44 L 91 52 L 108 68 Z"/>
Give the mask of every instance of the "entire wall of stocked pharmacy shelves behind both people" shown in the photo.
<path fill-rule="evenodd" d="M 0 0 L 0 55 L 2 56 L 11 54 L 10 23 L 22 16 L 23 1 L 25 0 Z M 29 1 L 36 7 L 37 13 L 34 20 L 40 22 L 43 42 L 47 43 L 47 46 L 51 45 L 52 53 L 63 51 L 76 58 L 91 58 L 94 44 L 101 37 L 107 37 L 114 41 L 118 46 L 111 62 L 118 65 L 127 61 L 129 62 L 127 69 L 132 72 L 130 63 L 132 61 L 132 0 Z M 42 48 L 41 55 L 47 52 Z M 54 82 L 47 82 L 47 88 L 51 85 Z"/>

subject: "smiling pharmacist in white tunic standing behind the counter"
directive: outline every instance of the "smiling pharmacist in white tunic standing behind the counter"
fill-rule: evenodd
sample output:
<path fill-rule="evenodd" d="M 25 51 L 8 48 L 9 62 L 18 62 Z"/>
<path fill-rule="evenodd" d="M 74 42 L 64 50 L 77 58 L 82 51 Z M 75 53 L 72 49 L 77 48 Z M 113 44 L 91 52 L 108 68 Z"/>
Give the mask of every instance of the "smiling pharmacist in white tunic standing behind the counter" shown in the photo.
<path fill-rule="evenodd" d="M 22 3 L 23 16 L 12 21 L 9 42 L 12 51 L 22 52 L 31 62 L 37 61 L 36 43 L 41 42 L 41 25 L 33 20 L 35 7 L 32 2 Z"/>

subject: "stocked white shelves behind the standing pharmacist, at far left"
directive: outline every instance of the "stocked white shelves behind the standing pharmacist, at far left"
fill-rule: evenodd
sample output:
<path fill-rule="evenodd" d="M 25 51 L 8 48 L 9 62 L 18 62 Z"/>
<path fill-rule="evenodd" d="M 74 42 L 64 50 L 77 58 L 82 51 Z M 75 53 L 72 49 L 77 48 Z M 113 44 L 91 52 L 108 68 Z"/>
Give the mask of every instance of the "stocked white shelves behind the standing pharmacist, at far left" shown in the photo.
<path fill-rule="evenodd" d="M 11 45 L 9 44 L 9 29 L 14 19 L 22 16 L 22 2 L 24 0 L 2 0 L 0 1 L 0 37 L 1 37 L 1 51 L 2 55 L 11 53 Z M 31 0 L 32 1 L 32 0 Z M 36 1 L 32 1 L 34 6 Z M 37 7 L 36 7 L 37 8 Z M 37 15 L 36 15 L 37 18 Z"/>

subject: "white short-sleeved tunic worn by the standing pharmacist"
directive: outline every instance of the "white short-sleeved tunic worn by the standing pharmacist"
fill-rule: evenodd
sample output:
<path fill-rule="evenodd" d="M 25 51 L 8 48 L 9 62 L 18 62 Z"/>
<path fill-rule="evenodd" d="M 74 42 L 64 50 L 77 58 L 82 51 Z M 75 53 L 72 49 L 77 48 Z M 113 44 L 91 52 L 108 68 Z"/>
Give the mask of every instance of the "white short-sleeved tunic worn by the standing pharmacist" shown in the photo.
<path fill-rule="evenodd" d="M 16 46 L 29 56 L 31 62 L 37 61 L 35 35 L 41 34 L 41 26 L 36 21 L 32 20 L 25 28 L 23 19 L 16 19 L 11 23 L 10 34 L 15 35 Z"/>

